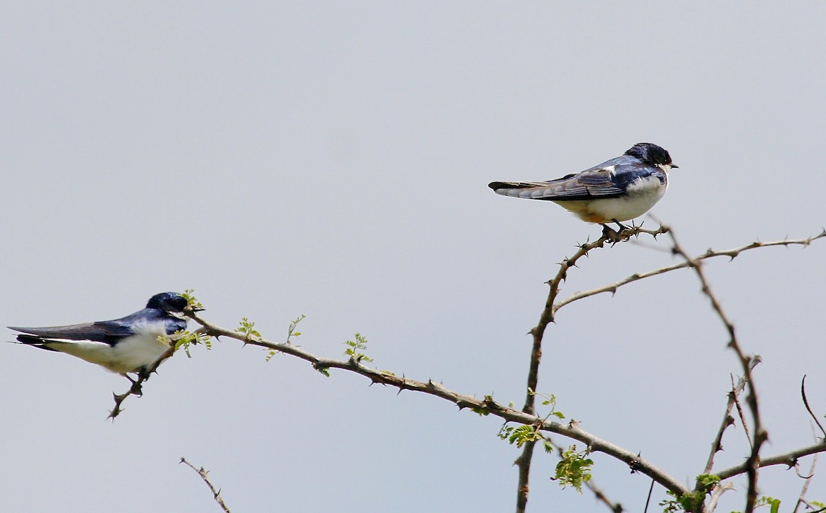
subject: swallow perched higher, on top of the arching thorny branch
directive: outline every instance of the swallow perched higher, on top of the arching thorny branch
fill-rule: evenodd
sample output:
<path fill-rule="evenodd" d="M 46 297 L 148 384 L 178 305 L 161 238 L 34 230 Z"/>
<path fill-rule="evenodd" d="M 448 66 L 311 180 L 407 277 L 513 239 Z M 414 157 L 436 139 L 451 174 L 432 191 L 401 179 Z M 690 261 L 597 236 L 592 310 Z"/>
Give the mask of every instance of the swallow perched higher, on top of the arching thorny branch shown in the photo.
<path fill-rule="evenodd" d="M 493 181 L 496 194 L 548 200 L 588 223 L 616 223 L 648 212 L 668 188 L 668 172 L 677 167 L 656 144 L 634 144 L 617 158 L 583 172 L 551 181 Z"/>

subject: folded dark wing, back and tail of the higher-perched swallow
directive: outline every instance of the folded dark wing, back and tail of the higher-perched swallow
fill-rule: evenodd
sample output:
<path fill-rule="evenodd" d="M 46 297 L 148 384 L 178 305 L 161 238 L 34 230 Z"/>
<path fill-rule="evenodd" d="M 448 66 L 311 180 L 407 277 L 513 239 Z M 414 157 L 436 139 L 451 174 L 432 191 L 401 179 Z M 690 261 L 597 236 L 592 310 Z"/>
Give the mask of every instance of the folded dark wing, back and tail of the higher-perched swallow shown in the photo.
<path fill-rule="evenodd" d="M 494 181 L 496 194 L 530 200 L 594 200 L 623 195 L 625 187 L 651 174 L 651 167 L 628 156 L 551 181 Z"/>

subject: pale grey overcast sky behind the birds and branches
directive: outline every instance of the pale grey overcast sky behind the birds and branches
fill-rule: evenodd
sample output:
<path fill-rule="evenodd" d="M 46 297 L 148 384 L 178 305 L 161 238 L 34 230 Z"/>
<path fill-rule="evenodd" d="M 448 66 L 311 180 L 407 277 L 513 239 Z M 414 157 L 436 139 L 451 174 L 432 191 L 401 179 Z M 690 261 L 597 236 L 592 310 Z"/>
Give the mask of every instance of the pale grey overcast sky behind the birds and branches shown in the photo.
<path fill-rule="evenodd" d="M 690 252 L 819 233 L 824 26 L 824 2 L 4 2 L 0 325 L 195 289 L 224 327 L 247 316 L 282 340 L 305 313 L 307 351 L 337 357 L 361 332 L 379 369 L 521 404 L 544 282 L 600 228 L 487 183 L 651 142 L 680 166 L 653 213 Z M 674 262 L 651 247 L 667 240 L 595 252 L 562 295 Z M 764 359 L 763 454 L 813 441 L 803 374 L 826 412 L 824 256 L 820 241 L 707 266 Z M 693 482 L 740 369 L 693 275 L 557 321 L 539 391 Z M 3 509 L 218 511 L 181 456 L 238 513 L 514 508 L 519 452 L 495 417 L 264 356 L 229 340 L 175 355 L 112 423 L 125 379 L 2 344 Z M 716 468 L 743 461 L 739 427 L 724 446 Z M 594 459 L 642 511 L 648 478 Z M 607 511 L 550 481 L 555 464 L 534 458 L 530 511 Z M 760 482 L 782 511 L 802 484 Z M 742 511 L 743 481 L 724 497 Z M 826 501 L 826 468 L 808 497 Z"/>

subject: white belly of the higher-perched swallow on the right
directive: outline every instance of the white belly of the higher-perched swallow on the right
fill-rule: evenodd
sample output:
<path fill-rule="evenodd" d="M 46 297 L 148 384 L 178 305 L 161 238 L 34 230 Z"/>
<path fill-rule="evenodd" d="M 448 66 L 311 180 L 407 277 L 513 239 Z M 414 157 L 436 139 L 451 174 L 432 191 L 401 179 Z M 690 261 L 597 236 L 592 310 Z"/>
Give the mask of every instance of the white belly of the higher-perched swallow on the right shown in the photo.
<path fill-rule="evenodd" d="M 627 194 L 619 198 L 599 200 L 554 201 L 570 210 L 579 219 L 589 223 L 610 223 L 628 221 L 648 212 L 666 193 L 668 183 L 662 183 L 656 176 L 635 181 L 627 189 Z"/>

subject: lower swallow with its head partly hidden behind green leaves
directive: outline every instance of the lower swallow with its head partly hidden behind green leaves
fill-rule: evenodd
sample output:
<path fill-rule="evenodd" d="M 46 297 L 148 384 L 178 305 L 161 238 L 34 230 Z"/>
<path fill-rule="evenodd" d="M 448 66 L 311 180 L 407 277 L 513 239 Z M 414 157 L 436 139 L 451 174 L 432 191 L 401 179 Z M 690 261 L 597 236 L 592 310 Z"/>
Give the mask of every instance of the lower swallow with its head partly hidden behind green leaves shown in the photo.
<path fill-rule="evenodd" d="M 118 374 L 140 374 L 169 351 L 159 337 L 187 327 L 183 317 L 187 307 L 181 294 L 164 292 L 152 296 L 146 308 L 112 321 L 8 328 L 21 332 L 17 335 L 21 344 L 77 356 Z"/>

